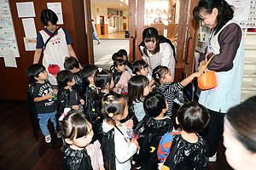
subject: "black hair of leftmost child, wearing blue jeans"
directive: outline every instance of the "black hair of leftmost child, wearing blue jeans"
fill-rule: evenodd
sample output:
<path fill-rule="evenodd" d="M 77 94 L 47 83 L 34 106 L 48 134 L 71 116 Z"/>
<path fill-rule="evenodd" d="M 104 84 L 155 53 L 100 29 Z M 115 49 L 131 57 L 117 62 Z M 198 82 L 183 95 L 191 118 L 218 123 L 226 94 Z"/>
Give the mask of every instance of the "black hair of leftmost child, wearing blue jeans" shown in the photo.
<path fill-rule="evenodd" d="M 26 75 L 27 75 L 29 82 L 31 82 L 31 83 L 37 82 L 35 77 L 38 77 L 39 74 L 44 71 L 45 71 L 45 67 L 44 67 L 44 65 L 41 65 L 41 64 L 33 64 L 33 65 L 30 65 L 29 67 L 27 67 Z"/>

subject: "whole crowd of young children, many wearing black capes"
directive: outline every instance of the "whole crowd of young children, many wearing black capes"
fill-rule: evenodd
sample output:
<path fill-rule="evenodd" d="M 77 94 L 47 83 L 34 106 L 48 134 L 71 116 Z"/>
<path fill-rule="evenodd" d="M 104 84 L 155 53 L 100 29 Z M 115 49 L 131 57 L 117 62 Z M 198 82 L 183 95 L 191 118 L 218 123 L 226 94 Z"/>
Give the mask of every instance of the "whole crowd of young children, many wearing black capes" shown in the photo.
<path fill-rule="evenodd" d="M 56 75 L 58 90 L 47 81 L 43 65 L 28 67 L 29 92 L 39 126 L 47 143 L 50 119 L 57 131 L 56 113 L 62 113 L 64 141 L 62 164 L 66 169 L 206 169 L 207 144 L 198 135 L 209 122 L 209 113 L 196 102 L 177 111 L 173 127 L 174 94 L 196 72 L 173 83 L 165 66 L 148 75 L 148 65 L 137 60 L 131 66 L 124 49 L 113 54 L 110 71 L 96 65 L 79 69 L 77 59 L 66 59 Z M 57 97 L 57 99 L 55 99 Z M 69 108 L 69 112 L 64 110 Z"/>

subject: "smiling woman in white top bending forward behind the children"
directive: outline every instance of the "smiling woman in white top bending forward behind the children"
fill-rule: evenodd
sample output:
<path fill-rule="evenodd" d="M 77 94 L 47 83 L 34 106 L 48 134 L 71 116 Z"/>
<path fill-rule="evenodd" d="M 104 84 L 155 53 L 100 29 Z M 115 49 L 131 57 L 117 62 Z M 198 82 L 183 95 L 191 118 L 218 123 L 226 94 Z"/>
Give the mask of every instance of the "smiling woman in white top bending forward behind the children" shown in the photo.
<path fill-rule="evenodd" d="M 139 44 L 143 59 L 148 64 L 148 73 L 158 65 L 166 66 L 170 69 L 172 77 L 175 70 L 175 51 L 172 42 L 166 37 L 159 36 L 154 27 L 148 27 L 143 31 L 143 42 Z"/>

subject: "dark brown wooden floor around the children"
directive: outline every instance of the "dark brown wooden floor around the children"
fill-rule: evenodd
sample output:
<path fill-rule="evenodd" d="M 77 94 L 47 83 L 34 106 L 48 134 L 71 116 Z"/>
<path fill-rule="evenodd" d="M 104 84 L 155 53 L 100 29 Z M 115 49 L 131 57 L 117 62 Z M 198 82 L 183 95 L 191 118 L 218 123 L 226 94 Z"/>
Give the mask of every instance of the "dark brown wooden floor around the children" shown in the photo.
<path fill-rule="evenodd" d="M 42 133 L 34 139 L 26 102 L 0 101 L 0 111 L 0 169 L 62 169 L 61 140 L 46 144 Z M 53 132 L 51 123 L 49 129 Z M 218 161 L 207 170 L 229 169 L 220 144 Z"/>

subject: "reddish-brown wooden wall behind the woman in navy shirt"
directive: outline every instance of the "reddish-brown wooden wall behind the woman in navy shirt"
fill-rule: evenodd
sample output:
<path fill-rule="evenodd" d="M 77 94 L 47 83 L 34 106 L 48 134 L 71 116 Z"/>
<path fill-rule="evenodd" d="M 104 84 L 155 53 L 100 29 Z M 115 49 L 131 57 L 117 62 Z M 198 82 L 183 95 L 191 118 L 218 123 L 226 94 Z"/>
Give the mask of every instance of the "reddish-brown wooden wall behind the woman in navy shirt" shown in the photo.
<path fill-rule="evenodd" d="M 26 100 L 26 89 L 28 80 L 26 77 L 26 68 L 32 65 L 33 51 L 25 51 L 23 37 L 25 32 L 22 26 L 21 18 L 18 18 L 16 3 L 27 2 L 27 0 L 11 0 L 9 6 L 12 13 L 12 18 L 15 26 L 15 35 L 20 52 L 20 58 L 16 58 L 17 68 L 6 68 L 3 58 L 0 58 L 0 99 Z M 37 31 L 44 28 L 40 21 L 40 14 L 44 8 L 47 8 L 46 3 L 61 3 L 64 25 L 61 27 L 67 29 L 73 39 L 73 49 L 78 56 L 82 65 L 88 62 L 87 43 L 84 24 L 84 0 L 31 0 L 34 3 L 36 17 L 35 25 Z M 42 61 L 43 55 L 40 61 Z"/>

